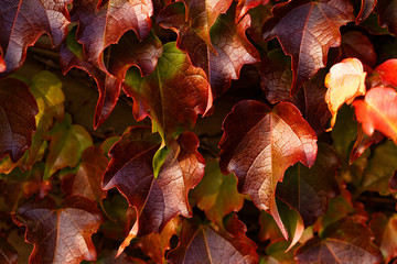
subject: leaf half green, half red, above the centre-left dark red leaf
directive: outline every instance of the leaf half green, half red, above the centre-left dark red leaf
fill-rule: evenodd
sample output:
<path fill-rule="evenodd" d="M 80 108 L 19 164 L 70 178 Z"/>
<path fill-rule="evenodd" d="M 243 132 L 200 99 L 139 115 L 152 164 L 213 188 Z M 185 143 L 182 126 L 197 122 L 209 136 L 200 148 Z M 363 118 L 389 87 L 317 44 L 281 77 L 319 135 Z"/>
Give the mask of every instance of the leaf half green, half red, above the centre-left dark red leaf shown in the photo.
<path fill-rule="evenodd" d="M 133 116 L 152 120 L 153 132 L 169 142 L 191 129 L 197 114 L 212 107 L 212 94 L 205 74 L 191 65 L 189 57 L 167 43 L 158 66 L 148 77 L 130 68 L 124 82 L 125 92 L 133 99 Z"/>

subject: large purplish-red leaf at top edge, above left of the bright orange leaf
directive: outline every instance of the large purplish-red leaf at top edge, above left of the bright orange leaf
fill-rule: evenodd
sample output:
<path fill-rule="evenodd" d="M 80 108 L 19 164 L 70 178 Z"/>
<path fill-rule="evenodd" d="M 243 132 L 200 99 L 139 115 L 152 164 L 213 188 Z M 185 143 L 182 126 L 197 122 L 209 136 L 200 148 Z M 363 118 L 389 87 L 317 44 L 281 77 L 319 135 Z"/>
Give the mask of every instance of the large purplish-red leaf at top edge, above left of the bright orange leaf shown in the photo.
<path fill-rule="evenodd" d="M 354 20 L 348 1 L 292 1 L 279 3 L 265 22 L 264 41 L 277 37 L 292 57 L 293 95 L 305 80 L 326 65 L 330 47 L 341 44 L 340 26 Z"/>

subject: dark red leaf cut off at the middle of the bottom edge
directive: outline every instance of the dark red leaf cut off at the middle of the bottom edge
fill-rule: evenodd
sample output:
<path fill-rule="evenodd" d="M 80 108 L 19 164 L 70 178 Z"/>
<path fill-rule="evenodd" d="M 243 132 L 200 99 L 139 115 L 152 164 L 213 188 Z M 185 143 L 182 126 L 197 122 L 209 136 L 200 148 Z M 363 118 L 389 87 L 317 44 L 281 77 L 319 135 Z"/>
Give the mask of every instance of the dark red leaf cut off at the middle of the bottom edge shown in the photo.
<path fill-rule="evenodd" d="M 246 226 L 232 215 L 226 230 L 215 231 L 207 226 L 183 221 L 180 243 L 168 254 L 168 261 L 182 263 L 258 263 L 256 244 L 245 232 Z"/>

